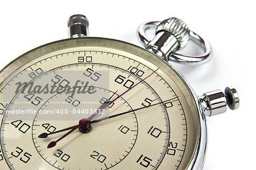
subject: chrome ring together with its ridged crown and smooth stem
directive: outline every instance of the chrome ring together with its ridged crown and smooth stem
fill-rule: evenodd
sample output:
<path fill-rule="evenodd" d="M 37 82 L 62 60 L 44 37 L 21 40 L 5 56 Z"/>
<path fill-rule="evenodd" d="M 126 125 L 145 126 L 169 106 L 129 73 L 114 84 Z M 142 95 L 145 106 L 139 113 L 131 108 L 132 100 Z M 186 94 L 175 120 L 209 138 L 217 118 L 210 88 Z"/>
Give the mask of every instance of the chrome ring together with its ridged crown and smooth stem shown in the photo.
<path fill-rule="evenodd" d="M 150 29 L 156 30 L 156 36 L 152 40 L 146 35 L 146 31 Z M 163 22 L 155 21 L 141 24 L 138 27 L 138 39 L 146 49 L 166 61 L 197 65 L 207 63 L 211 58 L 211 48 L 208 41 L 190 31 L 187 24 L 177 18 L 169 18 L 163 20 Z M 189 39 L 204 49 L 202 55 L 189 56 L 176 53 L 187 45 Z"/>

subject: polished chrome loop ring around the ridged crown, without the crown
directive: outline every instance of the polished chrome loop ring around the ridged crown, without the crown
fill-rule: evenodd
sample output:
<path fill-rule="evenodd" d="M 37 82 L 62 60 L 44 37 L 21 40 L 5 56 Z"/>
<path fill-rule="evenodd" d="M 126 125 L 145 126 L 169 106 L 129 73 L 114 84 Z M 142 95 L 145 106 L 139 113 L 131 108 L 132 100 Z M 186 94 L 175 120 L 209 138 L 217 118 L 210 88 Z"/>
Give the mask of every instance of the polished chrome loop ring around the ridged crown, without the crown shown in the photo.
<path fill-rule="evenodd" d="M 151 40 L 146 35 L 146 30 L 155 29 L 160 24 L 159 21 L 155 22 L 147 22 L 143 23 L 138 28 L 138 39 L 144 46 L 146 46 Z M 189 64 L 189 65 L 197 65 L 207 63 L 210 58 L 211 47 L 208 41 L 201 36 L 197 35 L 195 32 L 190 31 L 190 39 L 193 42 L 199 44 L 203 49 L 204 53 L 198 56 L 189 56 L 189 55 L 181 55 L 176 52 L 172 52 L 168 57 L 168 61 L 174 61 L 176 63 Z"/>

